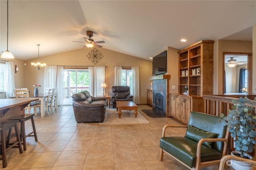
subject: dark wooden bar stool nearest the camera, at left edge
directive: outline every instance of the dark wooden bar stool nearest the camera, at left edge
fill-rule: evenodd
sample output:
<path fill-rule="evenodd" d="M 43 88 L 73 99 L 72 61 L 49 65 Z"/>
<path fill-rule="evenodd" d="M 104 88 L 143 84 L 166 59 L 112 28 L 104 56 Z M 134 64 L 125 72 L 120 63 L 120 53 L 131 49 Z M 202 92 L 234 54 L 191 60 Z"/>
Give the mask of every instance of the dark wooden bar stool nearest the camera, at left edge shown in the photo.
<path fill-rule="evenodd" d="M 23 152 L 22 146 L 21 146 L 21 141 L 20 141 L 20 135 L 18 131 L 18 120 L 13 120 L 13 121 L 2 121 L 0 125 L 0 133 L 1 133 L 1 153 L 2 153 L 2 160 L 3 160 L 3 168 L 7 166 L 7 160 L 6 160 L 6 151 L 11 149 L 12 147 L 18 145 L 18 148 L 20 150 L 20 153 Z M 15 135 L 16 135 L 16 141 L 9 146 L 9 143 L 7 141 L 6 143 L 6 131 L 8 130 L 8 139 L 12 133 L 12 128 L 14 127 L 15 129 Z M 6 145 L 7 144 L 7 145 Z"/>

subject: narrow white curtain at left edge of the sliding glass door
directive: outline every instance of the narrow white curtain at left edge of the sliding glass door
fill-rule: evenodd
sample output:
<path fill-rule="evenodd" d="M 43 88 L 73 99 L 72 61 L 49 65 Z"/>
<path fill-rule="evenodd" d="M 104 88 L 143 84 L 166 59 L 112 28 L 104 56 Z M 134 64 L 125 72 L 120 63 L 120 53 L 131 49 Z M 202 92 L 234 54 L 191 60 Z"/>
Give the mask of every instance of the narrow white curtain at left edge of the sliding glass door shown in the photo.
<path fill-rule="evenodd" d="M 57 66 L 57 81 L 56 81 L 56 88 L 58 92 L 58 106 L 63 106 L 63 66 Z"/>

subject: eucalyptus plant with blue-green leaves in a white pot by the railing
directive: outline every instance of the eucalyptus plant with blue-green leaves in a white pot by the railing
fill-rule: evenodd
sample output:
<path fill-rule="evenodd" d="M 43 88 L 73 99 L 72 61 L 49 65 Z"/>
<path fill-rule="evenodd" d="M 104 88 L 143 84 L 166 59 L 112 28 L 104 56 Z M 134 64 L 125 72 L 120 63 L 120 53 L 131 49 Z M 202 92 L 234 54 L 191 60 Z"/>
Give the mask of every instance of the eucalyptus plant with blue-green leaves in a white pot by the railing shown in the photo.
<path fill-rule="evenodd" d="M 232 110 L 229 110 L 229 114 L 226 117 L 224 117 L 223 113 L 220 114 L 220 117 L 222 117 L 221 122 L 223 125 L 230 127 L 230 136 L 236 138 L 234 140 L 236 144 L 235 150 L 238 151 L 236 153 L 239 154 L 235 156 L 252 158 L 250 155 L 246 154 L 246 152 L 252 152 L 256 143 L 256 132 L 254 131 L 256 127 L 256 116 L 254 115 L 256 98 L 249 100 L 247 96 L 244 98 L 240 97 L 238 100 L 232 100 L 232 103 L 234 103 L 234 106 Z M 234 162 L 231 165 L 235 168 Z M 240 165 L 242 165 L 242 163 L 240 163 Z M 245 164 L 245 166 L 248 166 L 248 164 Z"/>

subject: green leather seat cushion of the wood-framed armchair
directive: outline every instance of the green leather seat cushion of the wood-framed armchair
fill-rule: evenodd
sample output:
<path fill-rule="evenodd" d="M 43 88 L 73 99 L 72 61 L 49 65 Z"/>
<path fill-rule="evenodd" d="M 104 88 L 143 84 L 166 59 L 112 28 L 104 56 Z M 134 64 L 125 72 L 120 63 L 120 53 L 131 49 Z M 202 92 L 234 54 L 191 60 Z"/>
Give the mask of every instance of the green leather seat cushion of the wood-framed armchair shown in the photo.
<path fill-rule="evenodd" d="M 196 147 L 198 142 L 186 137 L 162 137 L 160 139 L 160 148 L 174 155 L 176 158 L 187 164 L 189 167 L 195 167 Z M 221 158 L 221 152 L 202 145 L 201 161 L 210 161 Z"/>

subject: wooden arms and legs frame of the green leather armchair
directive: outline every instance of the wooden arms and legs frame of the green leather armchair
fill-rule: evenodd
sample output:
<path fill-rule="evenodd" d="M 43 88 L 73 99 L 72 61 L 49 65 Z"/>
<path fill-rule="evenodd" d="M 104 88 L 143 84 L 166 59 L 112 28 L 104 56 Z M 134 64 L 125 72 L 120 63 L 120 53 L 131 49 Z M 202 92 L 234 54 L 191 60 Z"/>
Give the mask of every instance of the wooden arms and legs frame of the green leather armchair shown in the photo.
<path fill-rule="evenodd" d="M 165 137 L 165 131 L 166 128 L 168 127 L 182 127 L 182 128 L 187 128 L 187 125 L 165 125 L 162 131 L 162 137 Z M 229 128 L 226 130 L 225 138 L 210 138 L 210 139 L 201 139 L 198 144 L 197 144 L 197 150 L 196 150 L 196 166 L 193 168 L 190 168 L 188 165 L 186 165 L 184 162 L 180 161 L 178 158 L 175 156 L 172 156 L 172 154 L 166 152 L 162 148 L 160 148 L 160 161 L 163 160 L 164 152 L 186 166 L 187 168 L 191 170 L 200 170 L 202 167 L 206 166 L 212 166 L 212 165 L 218 165 L 220 164 L 220 159 L 218 160 L 211 160 L 211 161 L 206 161 L 206 162 L 201 162 L 201 146 L 204 142 L 218 142 L 222 141 L 224 143 L 224 146 L 222 148 L 222 156 L 226 155 L 226 150 L 227 150 L 227 145 L 228 145 L 228 137 L 229 137 Z"/>

